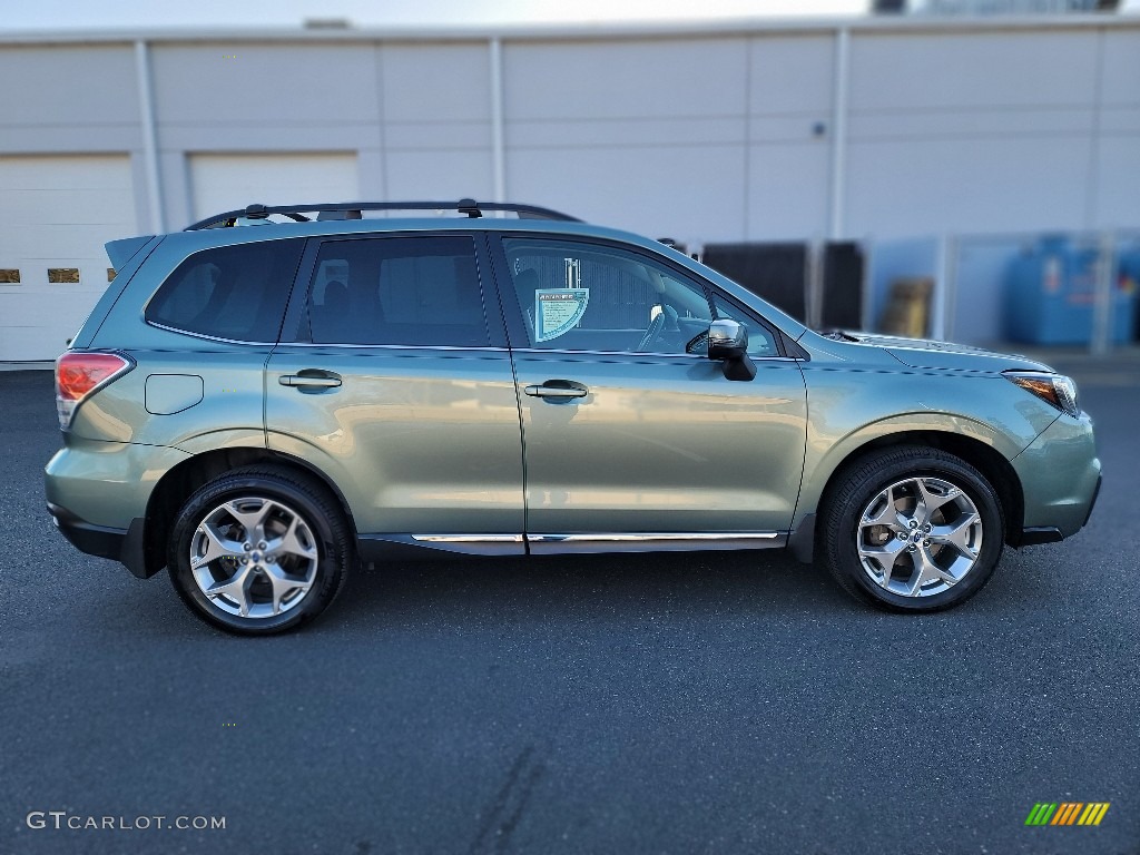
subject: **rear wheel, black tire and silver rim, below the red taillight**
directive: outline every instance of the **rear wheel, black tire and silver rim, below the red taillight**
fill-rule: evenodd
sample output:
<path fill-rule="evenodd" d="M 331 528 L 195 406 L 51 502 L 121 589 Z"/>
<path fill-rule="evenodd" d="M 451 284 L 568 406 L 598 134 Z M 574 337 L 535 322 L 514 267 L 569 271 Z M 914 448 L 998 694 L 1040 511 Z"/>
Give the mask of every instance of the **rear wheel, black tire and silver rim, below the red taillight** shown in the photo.
<path fill-rule="evenodd" d="M 222 535 L 213 559 L 207 524 Z M 171 532 L 166 561 L 182 602 L 207 624 L 239 635 L 309 622 L 340 593 L 355 561 L 344 514 L 324 484 L 275 466 L 234 470 L 201 487 Z M 203 559 L 196 568 L 192 551 Z M 206 595 L 205 587 L 227 583 L 234 593 Z"/>

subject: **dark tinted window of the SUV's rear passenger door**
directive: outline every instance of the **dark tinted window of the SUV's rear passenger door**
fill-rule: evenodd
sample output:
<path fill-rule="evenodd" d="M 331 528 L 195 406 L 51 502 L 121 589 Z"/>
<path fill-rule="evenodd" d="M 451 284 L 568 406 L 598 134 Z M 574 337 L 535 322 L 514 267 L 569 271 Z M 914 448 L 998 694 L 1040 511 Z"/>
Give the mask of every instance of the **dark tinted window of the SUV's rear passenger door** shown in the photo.
<path fill-rule="evenodd" d="M 470 237 L 326 242 L 309 293 L 317 344 L 488 343 Z"/>

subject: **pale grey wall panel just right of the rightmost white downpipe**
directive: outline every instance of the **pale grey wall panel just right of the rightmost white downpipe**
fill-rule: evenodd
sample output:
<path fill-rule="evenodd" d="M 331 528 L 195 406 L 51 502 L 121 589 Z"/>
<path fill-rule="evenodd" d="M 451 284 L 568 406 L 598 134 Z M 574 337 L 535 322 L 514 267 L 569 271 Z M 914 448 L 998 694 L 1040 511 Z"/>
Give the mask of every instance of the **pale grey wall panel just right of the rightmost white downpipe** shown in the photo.
<path fill-rule="evenodd" d="M 850 234 L 1089 225 L 1097 65 L 1094 31 L 855 39 Z"/>

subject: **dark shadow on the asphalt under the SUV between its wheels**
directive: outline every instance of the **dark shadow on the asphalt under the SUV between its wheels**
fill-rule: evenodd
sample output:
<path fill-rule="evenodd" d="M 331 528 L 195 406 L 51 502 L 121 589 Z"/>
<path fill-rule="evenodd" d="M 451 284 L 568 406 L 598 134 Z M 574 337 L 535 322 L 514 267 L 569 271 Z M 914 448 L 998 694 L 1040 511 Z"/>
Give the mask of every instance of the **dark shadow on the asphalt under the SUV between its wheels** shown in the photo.
<path fill-rule="evenodd" d="M 455 559 L 376 565 L 345 584 L 340 621 L 576 622 L 861 608 L 813 565 L 755 552 Z M 323 621 L 319 621 L 323 622 Z"/>

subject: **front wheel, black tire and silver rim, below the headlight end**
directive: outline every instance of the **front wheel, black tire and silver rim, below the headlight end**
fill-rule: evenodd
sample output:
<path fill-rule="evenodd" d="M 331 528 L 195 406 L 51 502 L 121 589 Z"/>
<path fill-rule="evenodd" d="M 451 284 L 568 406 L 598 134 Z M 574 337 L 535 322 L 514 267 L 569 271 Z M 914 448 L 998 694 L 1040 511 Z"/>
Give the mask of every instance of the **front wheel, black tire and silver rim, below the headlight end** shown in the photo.
<path fill-rule="evenodd" d="M 933 512 L 926 503 L 919 508 L 922 490 L 933 497 L 929 505 L 945 504 Z M 911 502 L 915 506 L 909 511 Z M 816 548 L 839 585 L 860 600 L 904 612 L 950 609 L 977 594 L 1001 559 L 1005 531 L 1001 504 L 985 477 L 952 454 L 921 446 L 876 451 L 848 465 L 824 497 L 819 519 Z M 890 526 L 876 524 L 888 519 Z M 938 534 L 955 527 L 961 546 Z M 898 553 L 889 557 L 890 549 Z M 935 565 L 944 575 L 931 578 Z M 923 579 L 925 587 L 917 585 Z"/>

